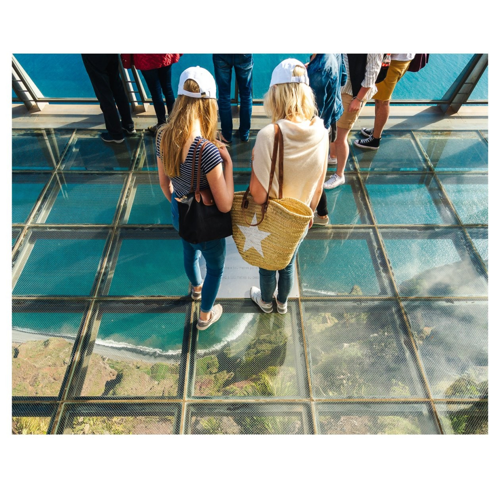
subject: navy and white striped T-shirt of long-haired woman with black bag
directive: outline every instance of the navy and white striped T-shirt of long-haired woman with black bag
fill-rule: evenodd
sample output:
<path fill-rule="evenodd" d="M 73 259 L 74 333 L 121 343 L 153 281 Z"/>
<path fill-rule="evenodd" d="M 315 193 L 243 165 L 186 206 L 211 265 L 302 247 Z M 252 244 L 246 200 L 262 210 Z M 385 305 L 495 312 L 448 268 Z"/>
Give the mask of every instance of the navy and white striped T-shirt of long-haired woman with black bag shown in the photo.
<path fill-rule="evenodd" d="M 194 151 L 194 145 L 201 139 L 201 135 L 195 137 L 192 144 L 189 146 L 189 151 L 187 152 L 186 159 L 180 164 L 180 175 L 177 177 L 171 177 L 173 190 L 177 196 L 184 196 L 185 194 L 191 192 L 191 171 L 192 171 L 192 154 Z M 156 156 L 161 158 L 160 154 L 160 140 L 161 132 L 156 136 Z M 212 144 L 210 141 L 203 139 L 196 149 L 195 165 L 194 165 L 194 181 L 192 189 L 196 189 L 196 178 L 198 174 L 198 154 L 201 144 L 203 142 L 208 142 L 208 144 L 203 148 L 203 154 L 201 156 L 201 173 L 199 176 L 199 188 L 206 189 L 209 187 L 208 180 L 206 180 L 206 174 L 213 170 L 219 163 L 222 163 L 222 158 L 218 151 L 216 145 Z"/>

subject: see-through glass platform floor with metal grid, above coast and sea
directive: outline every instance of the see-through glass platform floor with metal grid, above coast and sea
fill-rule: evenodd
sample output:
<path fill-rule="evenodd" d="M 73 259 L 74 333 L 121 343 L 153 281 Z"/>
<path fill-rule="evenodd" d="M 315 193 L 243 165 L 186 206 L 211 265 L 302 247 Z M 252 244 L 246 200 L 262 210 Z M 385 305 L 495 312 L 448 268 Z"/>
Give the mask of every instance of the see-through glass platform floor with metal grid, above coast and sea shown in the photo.
<path fill-rule="evenodd" d="M 288 313 L 228 238 L 198 331 L 152 134 L 14 130 L 12 432 L 487 433 L 487 130 L 357 135 Z"/>

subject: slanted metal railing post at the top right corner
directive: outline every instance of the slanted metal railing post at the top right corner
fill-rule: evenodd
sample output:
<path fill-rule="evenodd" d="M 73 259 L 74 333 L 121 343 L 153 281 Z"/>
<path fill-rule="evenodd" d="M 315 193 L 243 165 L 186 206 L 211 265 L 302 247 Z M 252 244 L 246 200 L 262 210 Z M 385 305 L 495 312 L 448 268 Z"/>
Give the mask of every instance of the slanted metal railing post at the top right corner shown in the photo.
<path fill-rule="evenodd" d="M 446 104 L 439 104 L 443 112 L 456 113 L 467 102 L 472 90 L 488 65 L 488 54 L 474 54 L 467 62 L 442 99 Z"/>

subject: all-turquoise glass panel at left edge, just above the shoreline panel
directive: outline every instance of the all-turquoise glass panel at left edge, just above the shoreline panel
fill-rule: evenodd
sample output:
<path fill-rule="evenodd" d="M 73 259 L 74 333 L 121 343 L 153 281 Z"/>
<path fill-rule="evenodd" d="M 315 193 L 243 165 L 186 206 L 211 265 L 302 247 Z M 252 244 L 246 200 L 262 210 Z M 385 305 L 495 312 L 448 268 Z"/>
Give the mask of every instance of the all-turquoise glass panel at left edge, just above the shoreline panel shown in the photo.
<path fill-rule="evenodd" d="M 31 230 L 14 264 L 14 295 L 88 295 L 108 231 Z"/>

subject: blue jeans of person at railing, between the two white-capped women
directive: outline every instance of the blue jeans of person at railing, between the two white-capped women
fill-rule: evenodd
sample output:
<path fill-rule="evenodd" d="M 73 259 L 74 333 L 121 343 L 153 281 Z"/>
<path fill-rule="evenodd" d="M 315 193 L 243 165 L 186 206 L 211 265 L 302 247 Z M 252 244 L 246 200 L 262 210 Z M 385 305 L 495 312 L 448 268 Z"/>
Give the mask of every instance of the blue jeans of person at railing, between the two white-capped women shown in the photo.
<path fill-rule="evenodd" d="M 220 116 L 220 130 L 222 135 L 231 140 L 232 114 L 231 114 L 231 71 L 238 82 L 239 92 L 239 137 L 248 138 L 250 130 L 250 116 L 252 107 L 252 67 L 251 54 L 213 54 L 213 71 L 218 89 L 218 107 Z"/>

